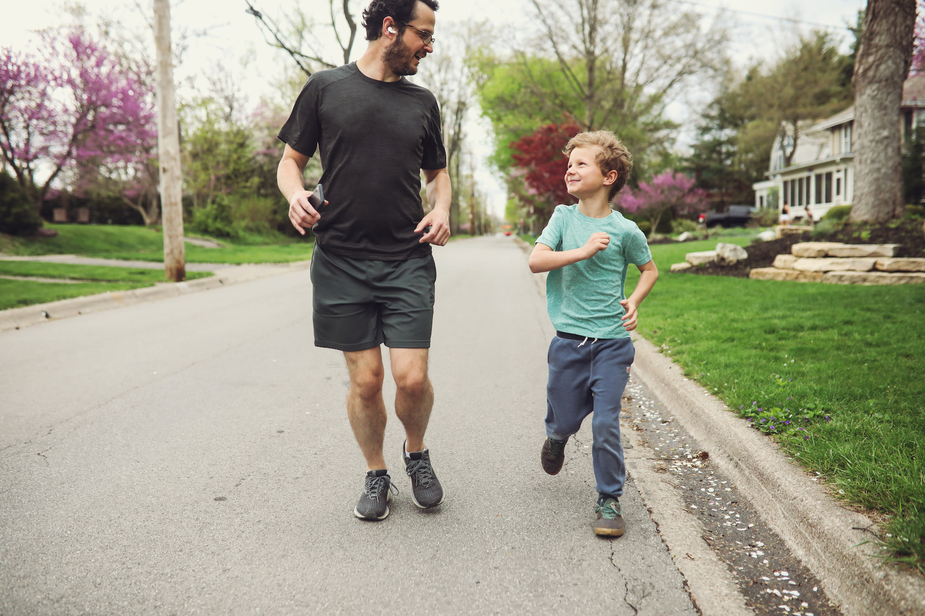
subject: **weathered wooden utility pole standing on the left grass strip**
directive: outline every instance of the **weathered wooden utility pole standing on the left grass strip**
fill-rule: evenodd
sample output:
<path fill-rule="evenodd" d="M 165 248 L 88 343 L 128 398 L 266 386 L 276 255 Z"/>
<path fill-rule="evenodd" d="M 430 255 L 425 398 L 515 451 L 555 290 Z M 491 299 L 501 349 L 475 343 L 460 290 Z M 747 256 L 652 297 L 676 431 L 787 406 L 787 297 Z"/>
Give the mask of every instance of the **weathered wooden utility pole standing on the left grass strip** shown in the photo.
<path fill-rule="evenodd" d="M 169 0 L 154 0 L 154 44 L 157 47 L 157 161 L 161 172 L 164 273 L 167 279 L 179 283 L 186 278 L 186 250 L 183 247 L 183 192 Z"/>

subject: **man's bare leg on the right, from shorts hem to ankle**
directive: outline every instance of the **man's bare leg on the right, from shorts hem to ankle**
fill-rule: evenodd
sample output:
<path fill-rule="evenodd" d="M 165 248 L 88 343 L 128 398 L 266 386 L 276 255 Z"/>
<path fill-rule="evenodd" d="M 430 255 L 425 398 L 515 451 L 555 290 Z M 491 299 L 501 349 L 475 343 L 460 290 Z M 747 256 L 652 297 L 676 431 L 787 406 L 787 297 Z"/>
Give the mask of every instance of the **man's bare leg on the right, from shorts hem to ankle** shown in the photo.
<path fill-rule="evenodd" d="M 395 415 L 404 425 L 408 452 L 424 451 L 424 433 L 434 407 L 434 388 L 427 378 L 429 349 L 389 349 L 395 379 Z"/>

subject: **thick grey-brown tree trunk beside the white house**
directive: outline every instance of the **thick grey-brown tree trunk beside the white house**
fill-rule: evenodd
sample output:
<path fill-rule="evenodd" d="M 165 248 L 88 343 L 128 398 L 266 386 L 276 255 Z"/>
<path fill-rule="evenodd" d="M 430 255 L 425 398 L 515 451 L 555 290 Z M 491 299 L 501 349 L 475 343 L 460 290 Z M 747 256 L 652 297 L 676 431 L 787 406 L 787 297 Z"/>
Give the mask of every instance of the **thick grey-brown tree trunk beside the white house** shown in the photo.
<path fill-rule="evenodd" d="M 903 212 L 899 107 L 912 58 L 916 0 L 868 0 L 855 65 L 855 199 L 851 220 Z"/>

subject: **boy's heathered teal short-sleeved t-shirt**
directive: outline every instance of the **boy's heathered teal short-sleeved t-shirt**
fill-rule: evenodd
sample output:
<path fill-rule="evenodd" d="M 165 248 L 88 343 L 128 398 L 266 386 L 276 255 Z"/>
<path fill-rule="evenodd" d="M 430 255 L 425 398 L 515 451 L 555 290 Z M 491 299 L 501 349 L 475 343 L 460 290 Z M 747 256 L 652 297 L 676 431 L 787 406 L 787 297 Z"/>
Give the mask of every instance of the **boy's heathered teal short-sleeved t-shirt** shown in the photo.
<path fill-rule="evenodd" d="M 557 205 L 538 244 L 553 250 L 572 250 L 586 245 L 591 234 L 603 231 L 611 243 L 594 257 L 549 272 L 546 309 L 560 332 L 588 338 L 629 338 L 620 320 L 625 314 L 620 301 L 629 264 L 652 260 L 646 236 L 633 221 L 611 211 L 606 218 L 591 218 L 577 205 Z"/>

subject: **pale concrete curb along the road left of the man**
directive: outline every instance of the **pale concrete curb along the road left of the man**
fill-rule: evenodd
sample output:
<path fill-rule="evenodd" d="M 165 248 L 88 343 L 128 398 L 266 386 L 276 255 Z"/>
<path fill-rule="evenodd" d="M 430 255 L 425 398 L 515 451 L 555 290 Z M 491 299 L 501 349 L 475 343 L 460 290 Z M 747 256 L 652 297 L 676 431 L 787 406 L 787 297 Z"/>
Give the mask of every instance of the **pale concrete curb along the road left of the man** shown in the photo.
<path fill-rule="evenodd" d="M 280 264 L 241 265 L 228 268 L 208 278 L 198 278 L 184 283 L 165 283 L 146 286 L 130 291 L 110 291 L 95 296 L 73 297 L 56 302 L 35 304 L 23 308 L 0 310 L 0 332 L 18 330 L 49 320 L 67 319 L 80 314 L 123 308 L 141 302 L 150 302 L 167 297 L 184 296 L 199 291 L 216 289 L 228 284 L 246 283 L 252 280 L 300 272 L 311 266 L 311 260 Z M 47 314 L 46 317 L 43 313 Z"/>

